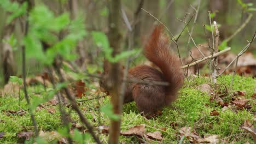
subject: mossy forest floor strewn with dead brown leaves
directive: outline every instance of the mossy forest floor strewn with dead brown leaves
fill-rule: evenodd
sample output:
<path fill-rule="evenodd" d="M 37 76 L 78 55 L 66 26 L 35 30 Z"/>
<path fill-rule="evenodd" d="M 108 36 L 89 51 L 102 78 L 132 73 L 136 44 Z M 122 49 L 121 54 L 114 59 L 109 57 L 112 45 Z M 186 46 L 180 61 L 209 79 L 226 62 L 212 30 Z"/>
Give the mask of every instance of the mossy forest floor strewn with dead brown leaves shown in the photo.
<path fill-rule="evenodd" d="M 219 77 L 218 84 L 209 83 L 207 77 L 196 77 L 186 81 L 178 99 L 170 107 L 165 107 L 161 115 L 146 119 L 138 112 L 135 103 L 124 105 L 120 136 L 122 143 L 253 143 L 256 125 L 256 80 L 251 77 L 235 76 L 232 88 L 231 75 Z M 203 84 L 203 85 L 202 85 Z M 96 97 L 95 92 L 90 91 Z M 1 90 L 0 90 L 1 91 Z M 30 86 L 31 97 L 43 97 L 43 86 Z M 0 95 L 0 143 L 19 143 L 30 139 L 33 124 L 28 106 L 21 92 L 21 101 L 15 94 Z M 1 94 L 1 93 L 0 93 Z M 79 100 L 89 99 L 83 97 Z M 103 143 L 108 140 L 109 118 L 98 111 L 99 105 L 109 102 L 109 97 L 79 103 L 80 110 L 94 125 Z M 73 129 L 87 131 L 79 123 L 79 117 L 65 106 L 73 119 Z M 35 111 L 40 136 L 48 143 L 61 140 L 63 127 L 57 105 L 47 103 Z M 130 130 L 129 130 L 130 129 Z M 131 132 L 133 131 L 133 132 Z M 252 130 L 253 131 L 253 130 Z M 84 139 L 92 142 L 89 134 Z M 62 140 L 64 141 L 64 140 Z"/>

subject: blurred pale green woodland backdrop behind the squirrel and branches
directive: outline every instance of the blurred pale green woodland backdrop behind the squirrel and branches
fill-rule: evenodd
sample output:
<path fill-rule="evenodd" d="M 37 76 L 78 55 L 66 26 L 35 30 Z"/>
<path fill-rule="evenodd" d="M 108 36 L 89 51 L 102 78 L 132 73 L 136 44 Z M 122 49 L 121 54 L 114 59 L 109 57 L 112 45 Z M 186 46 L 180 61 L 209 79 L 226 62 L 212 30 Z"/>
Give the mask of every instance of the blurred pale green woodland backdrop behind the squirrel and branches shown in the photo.
<path fill-rule="evenodd" d="M 16 1 L 20 2 L 20 1 Z M 60 4 L 61 3 L 61 4 Z M 122 8 L 124 9 L 128 20 L 130 23 L 133 22 L 134 15 L 136 13 L 136 9 L 140 1 L 138 0 L 123 0 Z M 200 3 L 198 15 L 196 17 L 196 9 L 198 4 Z M 107 0 L 76 0 L 76 1 L 53 1 L 53 0 L 38 0 L 36 1 L 36 5 L 46 5 L 46 8 L 53 11 L 52 17 L 40 17 L 40 13 L 44 13 L 44 9 L 38 9 L 34 11 L 35 14 L 39 15 L 38 19 L 40 22 L 47 22 L 42 24 L 44 27 L 49 27 L 51 30 L 54 29 L 54 26 L 51 25 L 51 21 L 57 21 L 57 19 L 63 20 L 62 24 L 65 27 L 65 20 L 68 16 L 70 19 L 81 20 L 84 25 L 82 26 L 81 31 L 76 29 L 73 34 L 82 34 L 82 39 L 79 37 L 79 44 L 77 47 L 79 49 L 73 49 L 72 51 L 66 51 L 67 55 L 72 53 L 77 53 L 76 59 L 73 58 L 72 61 L 75 61 L 82 69 L 86 68 L 88 65 L 102 65 L 103 62 L 103 53 L 101 47 L 97 45 L 97 41 L 94 39 L 95 32 L 103 32 L 108 33 L 108 1 Z M 71 5 L 71 7 L 69 7 Z M 21 74 L 21 45 L 22 39 L 24 38 L 24 21 L 25 17 L 19 17 L 18 20 L 11 20 L 10 14 L 7 12 L 8 5 L 1 5 L 0 7 L 0 54 L 1 54 L 1 64 L 0 64 L 0 85 L 3 85 L 3 43 L 9 43 L 13 50 L 14 57 L 14 71 L 16 75 Z M 12 7 L 8 9 L 17 9 L 16 15 L 22 14 L 22 4 L 17 5 L 17 7 Z M 192 37 L 195 43 L 203 44 L 207 43 L 208 38 L 211 37 L 211 32 L 208 31 L 210 27 L 209 21 L 209 12 L 211 11 L 211 18 L 214 21 L 217 21 L 219 24 L 220 31 L 220 40 L 224 41 L 229 38 L 238 28 L 245 23 L 246 19 L 250 14 L 252 14 L 252 19 L 247 23 L 246 27 L 242 29 L 241 32 L 235 35 L 226 46 L 230 46 L 232 48 L 232 52 L 238 53 L 243 49 L 243 47 L 248 43 L 247 40 L 252 38 L 252 35 L 256 29 L 256 1 L 254 0 L 208 0 L 208 1 L 186 1 L 186 0 L 146 0 L 142 6 L 143 9 L 147 10 L 148 13 L 154 15 L 157 19 L 163 22 L 170 32 L 173 35 L 179 35 L 183 28 L 185 27 L 184 21 L 190 19 L 190 16 L 193 16 L 193 19 L 189 22 L 188 29 L 190 30 L 194 27 Z M 40 11 L 41 10 L 41 11 Z M 61 11 L 61 12 L 60 12 Z M 64 14 L 61 14 L 64 13 Z M 136 51 L 137 49 L 143 47 L 143 44 L 147 40 L 148 35 L 153 30 L 153 27 L 156 23 L 156 19 L 153 16 L 150 16 L 146 11 L 141 10 L 138 15 L 138 20 L 136 22 L 136 27 L 134 29 L 135 37 L 134 47 Z M 67 14 L 67 15 L 65 15 Z M 61 18 L 62 17 L 62 18 Z M 66 17 L 66 18 L 65 18 Z M 120 17 L 121 19 L 121 17 Z M 74 21 L 75 21 L 74 20 Z M 38 21 L 38 20 L 37 20 Z M 81 22 L 80 21 L 80 22 Z M 194 23 L 195 21 L 195 23 Z M 11 23 L 13 25 L 13 31 L 10 34 L 8 39 L 4 38 L 4 35 L 8 31 L 8 27 Z M 54 22 L 53 22 L 54 23 Z M 61 22 L 60 22 L 61 24 Z M 79 25 L 79 22 L 77 23 Z M 205 28 L 204 26 L 205 25 Z M 61 27 L 61 26 L 57 26 Z M 77 26 L 80 28 L 81 26 Z M 84 28 L 83 28 L 84 27 Z M 123 34 L 123 50 L 127 49 L 128 45 L 128 28 L 125 25 L 125 22 L 122 23 L 122 34 Z M 210 27 L 210 28 L 209 28 Z M 208 30 L 207 30 L 208 29 Z M 56 29 L 55 29 L 56 30 Z M 206 36 L 208 35 L 208 36 Z M 48 37 L 48 35 L 42 35 L 45 39 L 54 40 L 54 38 Z M 182 33 L 181 38 L 179 38 L 178 45 L 179 50 L 181 51 L 182 57 L 189 56 L 189 51 L 191 47 L 194 46 L 192 41 L 188 44 L 189 34 L 187 28 Z M 66 44 L 66 43 L 65 43 Z M 25 44 L 26 45 L 26 44 Z M 177 51 L 177 48 L 174 43 L 172 43 L 173 51 Z M 70 45 L 75 47 L 75 45 Z M 36 50 L 36 47 L 35 47 Z M 39 50 L 38 50 L 39 51 Z M 256 53 L 256 45 L 252 44 L 249 51 L 253 52 L 254 55 Z M 62 51 L 63 52 L 63 51 Z M 65 51 L 64 51 L 65 52 Z M 33 51 L 32 55 L 38 54 L 37 51 Z M 71 55 L 70 55 L 71 56 Z M 143 63 L 143 56 L 139 56 L 135 63 Z M 42 60 L 42 59 L 41 59 Z M 27 74 L 37 74 L 42 71 L 43 61 L 40 61 L 40 58 L 31 58 L 27 56 Z M 87 65 L 87 66 L 85 66 Z M 134 65 L 134 63 L 132 64 Z M 90 67 L 91 68 L 91 67 Z M 89 69 L 90 69 L 89 68 Z M 87 68 L 88 69 L 88 68 Z M 100 68 L 101 70 L 101 68 Z"/>

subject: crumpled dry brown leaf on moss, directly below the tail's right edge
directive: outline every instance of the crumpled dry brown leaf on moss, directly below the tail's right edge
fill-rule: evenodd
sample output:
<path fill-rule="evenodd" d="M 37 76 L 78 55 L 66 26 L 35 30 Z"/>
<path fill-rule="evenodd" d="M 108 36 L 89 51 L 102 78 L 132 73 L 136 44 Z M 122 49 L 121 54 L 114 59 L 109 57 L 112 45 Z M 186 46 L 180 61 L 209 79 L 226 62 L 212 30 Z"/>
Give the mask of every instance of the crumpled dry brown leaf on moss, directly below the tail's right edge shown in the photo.
<path fill-rule="evenodd" d="M 195 142 L 197 139 L 199 139 L 199 135 L 194 130 L 192 130 L 190 127 L 182 127 L 179 130 L 179 133 L 181 134 L 181 136 L 187 137 L 187 139 L 190 142 Z"/>

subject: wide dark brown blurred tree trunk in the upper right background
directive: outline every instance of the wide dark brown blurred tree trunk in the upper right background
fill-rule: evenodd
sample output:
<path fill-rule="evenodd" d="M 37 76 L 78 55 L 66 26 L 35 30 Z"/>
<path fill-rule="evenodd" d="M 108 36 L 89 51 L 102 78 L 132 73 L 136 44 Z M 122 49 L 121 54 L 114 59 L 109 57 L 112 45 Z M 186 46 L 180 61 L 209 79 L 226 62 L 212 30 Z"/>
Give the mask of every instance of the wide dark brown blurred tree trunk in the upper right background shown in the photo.
<path fill-rule="evenodd" d="M 227 18 L 228 18 L 228 6 L 229 1 L 228 0 L 210 0 L 208 3 L 209 9 L 211 10 L 211 13 L 216 12 L 216 16 L 214 17 L 214 21 L 217 21 L 218 24 L 222 25 L 219 28 L 220 31 L 220 40 L 224 40 L 229 37 L 231 30 L 229 28 L 229 25 L 227 24 Z M 209 17 L 207 17 L 209 19 Z"/>

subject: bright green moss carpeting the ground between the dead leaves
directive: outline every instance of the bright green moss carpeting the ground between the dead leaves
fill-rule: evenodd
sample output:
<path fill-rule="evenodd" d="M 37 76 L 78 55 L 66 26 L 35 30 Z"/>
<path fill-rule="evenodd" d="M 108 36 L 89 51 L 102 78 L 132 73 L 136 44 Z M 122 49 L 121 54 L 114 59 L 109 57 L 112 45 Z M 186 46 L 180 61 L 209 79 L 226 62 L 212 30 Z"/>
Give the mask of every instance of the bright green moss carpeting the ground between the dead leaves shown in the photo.
<path fill-rule="evenodd" d="M 255 79 L 250 77 L 235 76 L 233 87 L 230 87 L 232 76 L 222 76 L 218 79 L 218 84 L 210 85 L 214 88 L 215 92 L 224 91 L 225 87 L 228 88 L 229 94 L 235 91 L 245 91 L 245 97 L 250 99 L 252 94 L 255 93 Z M 223 111 L 222 107 L 214 101 L 210 101 L 210 96 L 197 90 L 196 87 L 202 83 L 208 83 L 207 77 L 196 77 L 191 81 L 186 81 L 184 87 L 179 92 L 179 97 L 169 107 L 165 107 L 162 115 L 154 119 L 146 119 L 140 115 L 135 103 L 126 104 L 123 107 L 123 117 L 121 123 L 121 130 L 128 130 L 129 128 L 146 124 L 146 132 L 152 133 L 156 130 L 161 131 L 164 140 L 162 143 L 178 143 L 180 140 L 179 129 L 182 127 L 193 127 L 193 129 L 201 136 L 204 135 L 218 135 L 219 139 L 228 142 L 235 141 L 235 143 L 253 143 L 251 135 L 245 130 L 241 129 L 241 125 L 246 119 L 253 122 L 253 112 L 255 106 L 250 110 L 238 110 L 237 113 L 232 110 Z M 40 92 L 44 90 L 43 87 L 30 87 L 30 93 Z M 44 93 L 42 93 L 44 94 Z M 87 99 L 86 97 L 82 99 Z M 104 105 L 110 101 L 109 97 L 100 99 L 100 105 Z M 249 102 L 255 104 L 255 100 L 251 99 Z M 21 100 L 21 106 L 18 106 L 18 98 L 13 97 L 0 97 L 0 110 L 20 110 L 20 107 L 27 111 L 26 101 Z M 40 130 L 51 131 L 63 127 L 60 120 L 60 113 L 57 106 L 54 107 L 56 112 L 50 114 L 45 109 L 36 111 L 36 120 Z M 85 117 L 94 125 L 109 125 L 109 119 L 103 113 L 98 115 L 97 100 L 85 101 L 80 104 L 80 109 Z M 72 119 L 79 122 L 79 117 L 70 108 L 66 107 Z M 210 112 L 217 110 L 218 116 L 211 116 Z M 24 116 L 7 116 L 5 113 L 0 113 L 0 131 L 4 131 L 3 139 L 0 143 L 15 143 L 18 141 L 17 133 L 24 131 L 24 127 L 28 130 L 33 130 L 33 124 L 30 120 L 30 115 Z M 2 122 L 3 121 L 3 122 Z M 176 123 L 177 127 L 172 127 L 170 124 Z M 166 128 L 162 131 L 161 128 Z M 100 139 L 103 143 L 107 143 L 108 135 L 101 134 Z M 120 136 L 120 141 L 124 143 L 139 143 L 136 136 Z M 188 140 L 184 140 L 188 143 Z M 93 142 L 90 140 L 89 142 Z M 149 143 L 158 143 L 157 141 L 150 141 Z"/>

